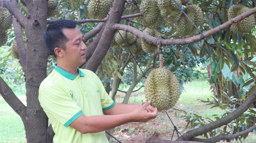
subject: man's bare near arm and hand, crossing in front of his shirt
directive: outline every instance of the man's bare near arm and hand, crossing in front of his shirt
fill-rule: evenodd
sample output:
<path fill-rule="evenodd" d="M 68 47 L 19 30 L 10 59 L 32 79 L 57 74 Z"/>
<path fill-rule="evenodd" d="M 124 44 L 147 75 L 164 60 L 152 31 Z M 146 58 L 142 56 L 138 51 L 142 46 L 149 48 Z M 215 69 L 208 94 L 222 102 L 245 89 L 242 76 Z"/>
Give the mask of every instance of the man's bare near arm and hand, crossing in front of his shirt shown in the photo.
<path fill-rule="evenodd" d="M 70 126 L 75 130 L 78 130 L 80 133 L 86 134 L 106 131 L 127 122 L 147 122 L 157 116 L 156 108 L 153 108 L 152 112 L 145 110 L 149 104 L 150 101 L 146 102 L 142 106 L 140 105 L 140 107 L 135 109 L 133 112 L 119 115 L 81 115 L 72 122 Z"/>

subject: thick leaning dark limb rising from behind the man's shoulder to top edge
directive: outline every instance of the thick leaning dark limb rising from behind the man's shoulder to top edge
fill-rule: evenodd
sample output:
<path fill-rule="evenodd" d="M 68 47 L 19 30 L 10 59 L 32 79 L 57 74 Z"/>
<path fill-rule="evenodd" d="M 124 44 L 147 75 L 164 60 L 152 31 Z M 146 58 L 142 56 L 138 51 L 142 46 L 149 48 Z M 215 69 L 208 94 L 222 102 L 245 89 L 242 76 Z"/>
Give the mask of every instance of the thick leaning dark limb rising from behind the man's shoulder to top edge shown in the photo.
<path fill-rule="evenodd" d="M 113 24 L 119 23 L 123 10 L 125 10 L 124 5 L 125 1 L 114 1 L 101 39 L 99 40 L 97 48 L 95 49 L 90 61 L 88 61 L 85 69 L 96 72 L 98 65 L 101 63 L 110 48 L 111 41 L 116 33 L 116 30 L 113 30 L 111 27 Z"/>

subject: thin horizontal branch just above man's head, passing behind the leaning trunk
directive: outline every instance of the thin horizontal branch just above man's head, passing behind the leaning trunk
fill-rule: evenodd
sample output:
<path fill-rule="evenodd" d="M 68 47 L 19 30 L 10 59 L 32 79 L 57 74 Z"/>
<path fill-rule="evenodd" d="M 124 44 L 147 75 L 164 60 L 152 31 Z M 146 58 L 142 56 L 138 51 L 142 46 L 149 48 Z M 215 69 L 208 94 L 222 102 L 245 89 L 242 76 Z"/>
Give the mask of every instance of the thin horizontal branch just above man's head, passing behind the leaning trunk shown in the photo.
<path fill-rule="evenodd" d="M 122 16 L 121 19 L 126 19 L 126 18 L 134 18 L 134 17 L 138 17 L 138 16 L 143 16 L 141 13 L 136 13 L 136 14 L 132 14 L 132 15 L 125 15 Z M 47 20 L 47 24 L 51 24 L 54 21 L 57 21 L 59 19 L 50 19 Z M 87 22 L 106 22 L 108 19 L 81 19 L 81 20 L 76 20 L 78 23 L 87 23 Z M 119 23 L 119 22 L 117 22 Z"/>

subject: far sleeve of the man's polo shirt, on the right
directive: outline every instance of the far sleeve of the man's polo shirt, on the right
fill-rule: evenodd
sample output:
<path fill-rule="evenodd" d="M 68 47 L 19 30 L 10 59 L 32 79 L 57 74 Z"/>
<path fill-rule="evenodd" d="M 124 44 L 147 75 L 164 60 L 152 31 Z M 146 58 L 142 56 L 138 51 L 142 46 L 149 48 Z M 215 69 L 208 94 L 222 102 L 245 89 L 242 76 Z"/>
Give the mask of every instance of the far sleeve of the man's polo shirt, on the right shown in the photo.
<path fill-rule="evenodd" d="M 114 107 L 115 103 L 114 101 L 111 99 L 111 97 L 108 95 L 108 93 L 106 92 L 103 84 L 101 83 L 101 80 L 99 79 L 99 77 L 95 74 L 95 78 L 97 79 L 98 85 L 99 85 L 99 93 L 101 95 L 101 106 L 102 106 L 102 110 L 108 110 L 112 107 Z"/>

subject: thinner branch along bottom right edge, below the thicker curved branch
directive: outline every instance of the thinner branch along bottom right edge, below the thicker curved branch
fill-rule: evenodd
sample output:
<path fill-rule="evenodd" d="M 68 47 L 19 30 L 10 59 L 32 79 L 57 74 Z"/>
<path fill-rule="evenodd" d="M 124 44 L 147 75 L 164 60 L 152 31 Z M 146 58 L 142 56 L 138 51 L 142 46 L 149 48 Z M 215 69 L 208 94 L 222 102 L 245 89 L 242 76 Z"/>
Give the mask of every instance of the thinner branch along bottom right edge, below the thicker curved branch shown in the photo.
<path fill-rule="evenodd" d="M 244 134 L 250 133 L 251 131 L 253 131 L 256 128 L 256 125 L 248 128 L 247 130 L 241 131 L 239 133 L 236 134 L 232 134 L 232 135 L 226 135 L 226 134 L 219 134 L 218 136 L 215 136 L 213 138 L 210 139 L 199 139 L 199 138 L 192 138 L 190 141 L 195 141 L 195 142 L 203 142 L 203 143 L 216 143 L 216 142 L 220 142 L 221 140 L 233 140 L 236 137 L 242 136 Z"/>

